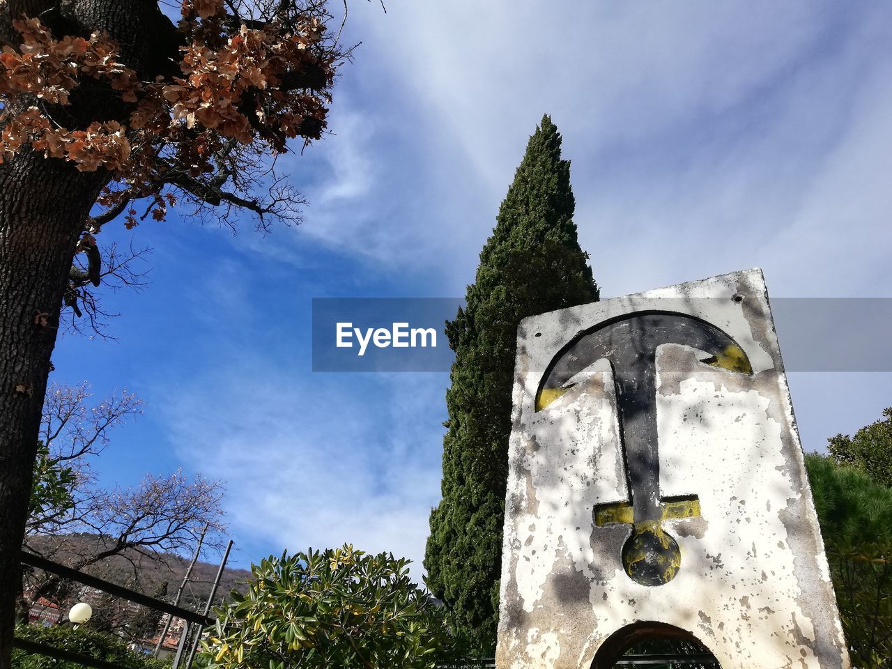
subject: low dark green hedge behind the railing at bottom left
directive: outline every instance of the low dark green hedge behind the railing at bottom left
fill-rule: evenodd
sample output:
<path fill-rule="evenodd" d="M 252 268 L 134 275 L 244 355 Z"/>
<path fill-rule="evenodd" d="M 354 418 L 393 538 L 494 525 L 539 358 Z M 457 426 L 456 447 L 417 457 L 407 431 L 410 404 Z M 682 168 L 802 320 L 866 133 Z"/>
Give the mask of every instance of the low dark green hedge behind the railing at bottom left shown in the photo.
<path fill-rule="evenodd" d="M 96 632 L 88 626 L 61 624 L 53 627 L 19 625 L 15 635 L 20 639 L 43 643 L 54 648 L 95 657 L 129 669 L 168 669 L 169 665 L 151 656 L 130 650 L 124 640 L 108 633 Z M 12 669 L 86 669 L 84 665 L 57 660 L 45 655 L 32 655 L 15 648 Z"/>

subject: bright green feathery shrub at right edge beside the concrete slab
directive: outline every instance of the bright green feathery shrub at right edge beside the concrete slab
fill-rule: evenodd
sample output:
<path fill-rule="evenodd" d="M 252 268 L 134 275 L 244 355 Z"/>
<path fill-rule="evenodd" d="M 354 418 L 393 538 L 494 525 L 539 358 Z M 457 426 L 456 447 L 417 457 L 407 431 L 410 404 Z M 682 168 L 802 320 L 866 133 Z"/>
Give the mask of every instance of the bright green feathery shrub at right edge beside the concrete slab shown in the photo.
<path fill-rule="evenodd" d="M 892 667 L 892 491 L 854 467 L 805 457 L 839 615 L 855 666 Z"/>

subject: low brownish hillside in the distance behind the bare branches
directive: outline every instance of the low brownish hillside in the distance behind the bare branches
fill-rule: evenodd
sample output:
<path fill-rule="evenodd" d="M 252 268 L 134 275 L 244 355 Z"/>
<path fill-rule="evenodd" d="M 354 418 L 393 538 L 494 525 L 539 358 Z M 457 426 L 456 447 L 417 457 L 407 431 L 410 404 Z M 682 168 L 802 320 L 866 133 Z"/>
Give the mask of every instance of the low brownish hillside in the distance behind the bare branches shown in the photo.
<path fill-rule="evenodd" d="M 95 555 L 104 546 L 103 539 L 95 534 L 29 537 L 27 543 L 45 558 L 69 566 L 75 566 L 80 556 Z M 152 557 L 141 555 L 136 550 L 128 550 L 121 555 L 106 558 L 101 563 L 88 566 L 85 571 L 146 595 L 172 601 L 179 584 L 183 581 L 183 576 L 186 574 L 189 558 L 169 553 L 146 552 L 150 553 Z M 220 557 L 217 559 L 219 560 Z M 204 607 L 208 595 L 211 593 L 211 585 L 218 568 L 219 562 L 217 564 L 196 562 L 192 574 L 189 576 L 186 590 L 183 591 L 180 605 L 193 609 Z M 244 582 L 250 576 L 251 572 L 245 569 L 227 568 L 224 570 L 217 596 L 214 598 L 215 604 L 225 599 L 234 589 L 245 591 Z"/>

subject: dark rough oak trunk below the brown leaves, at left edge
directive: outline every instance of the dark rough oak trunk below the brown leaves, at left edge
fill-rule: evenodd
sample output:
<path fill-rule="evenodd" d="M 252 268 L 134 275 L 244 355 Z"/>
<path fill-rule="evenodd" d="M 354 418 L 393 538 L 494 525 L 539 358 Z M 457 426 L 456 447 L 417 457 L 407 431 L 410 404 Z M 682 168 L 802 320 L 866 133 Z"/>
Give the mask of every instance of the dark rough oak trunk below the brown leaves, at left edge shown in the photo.
<path fill-rule="evenodd" d="M 35 153 L 0 165 L 0 669 L 21 595 L 19 550 L 62 293 L 107 178 Z"/>

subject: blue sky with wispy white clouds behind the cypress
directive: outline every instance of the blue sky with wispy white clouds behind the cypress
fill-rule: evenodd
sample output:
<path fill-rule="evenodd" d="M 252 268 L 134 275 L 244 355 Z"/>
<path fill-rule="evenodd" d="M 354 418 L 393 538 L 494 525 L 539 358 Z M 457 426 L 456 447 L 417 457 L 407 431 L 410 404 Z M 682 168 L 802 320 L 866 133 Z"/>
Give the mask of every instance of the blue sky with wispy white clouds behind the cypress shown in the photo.
<path fill-rule="evenodd" d="M 151 283 L 103 295 L 116 341 L 54 353 L 55 382 L 145 400 L 103 483 L 225 482 L 231 564 L 347 541 L 420 576 L 449 376 L 314 373 L 311 301 L 463 295 L 543 113 L 602 298 L 752 267 L 773 298 L 892 298 L 892 5 L 384 4 L 349 0 L 332 134 L 280 163 L 303 223 L 103 231 Z M 892 405 L 889 373 L 789 384 L 808 451 Z"/>

